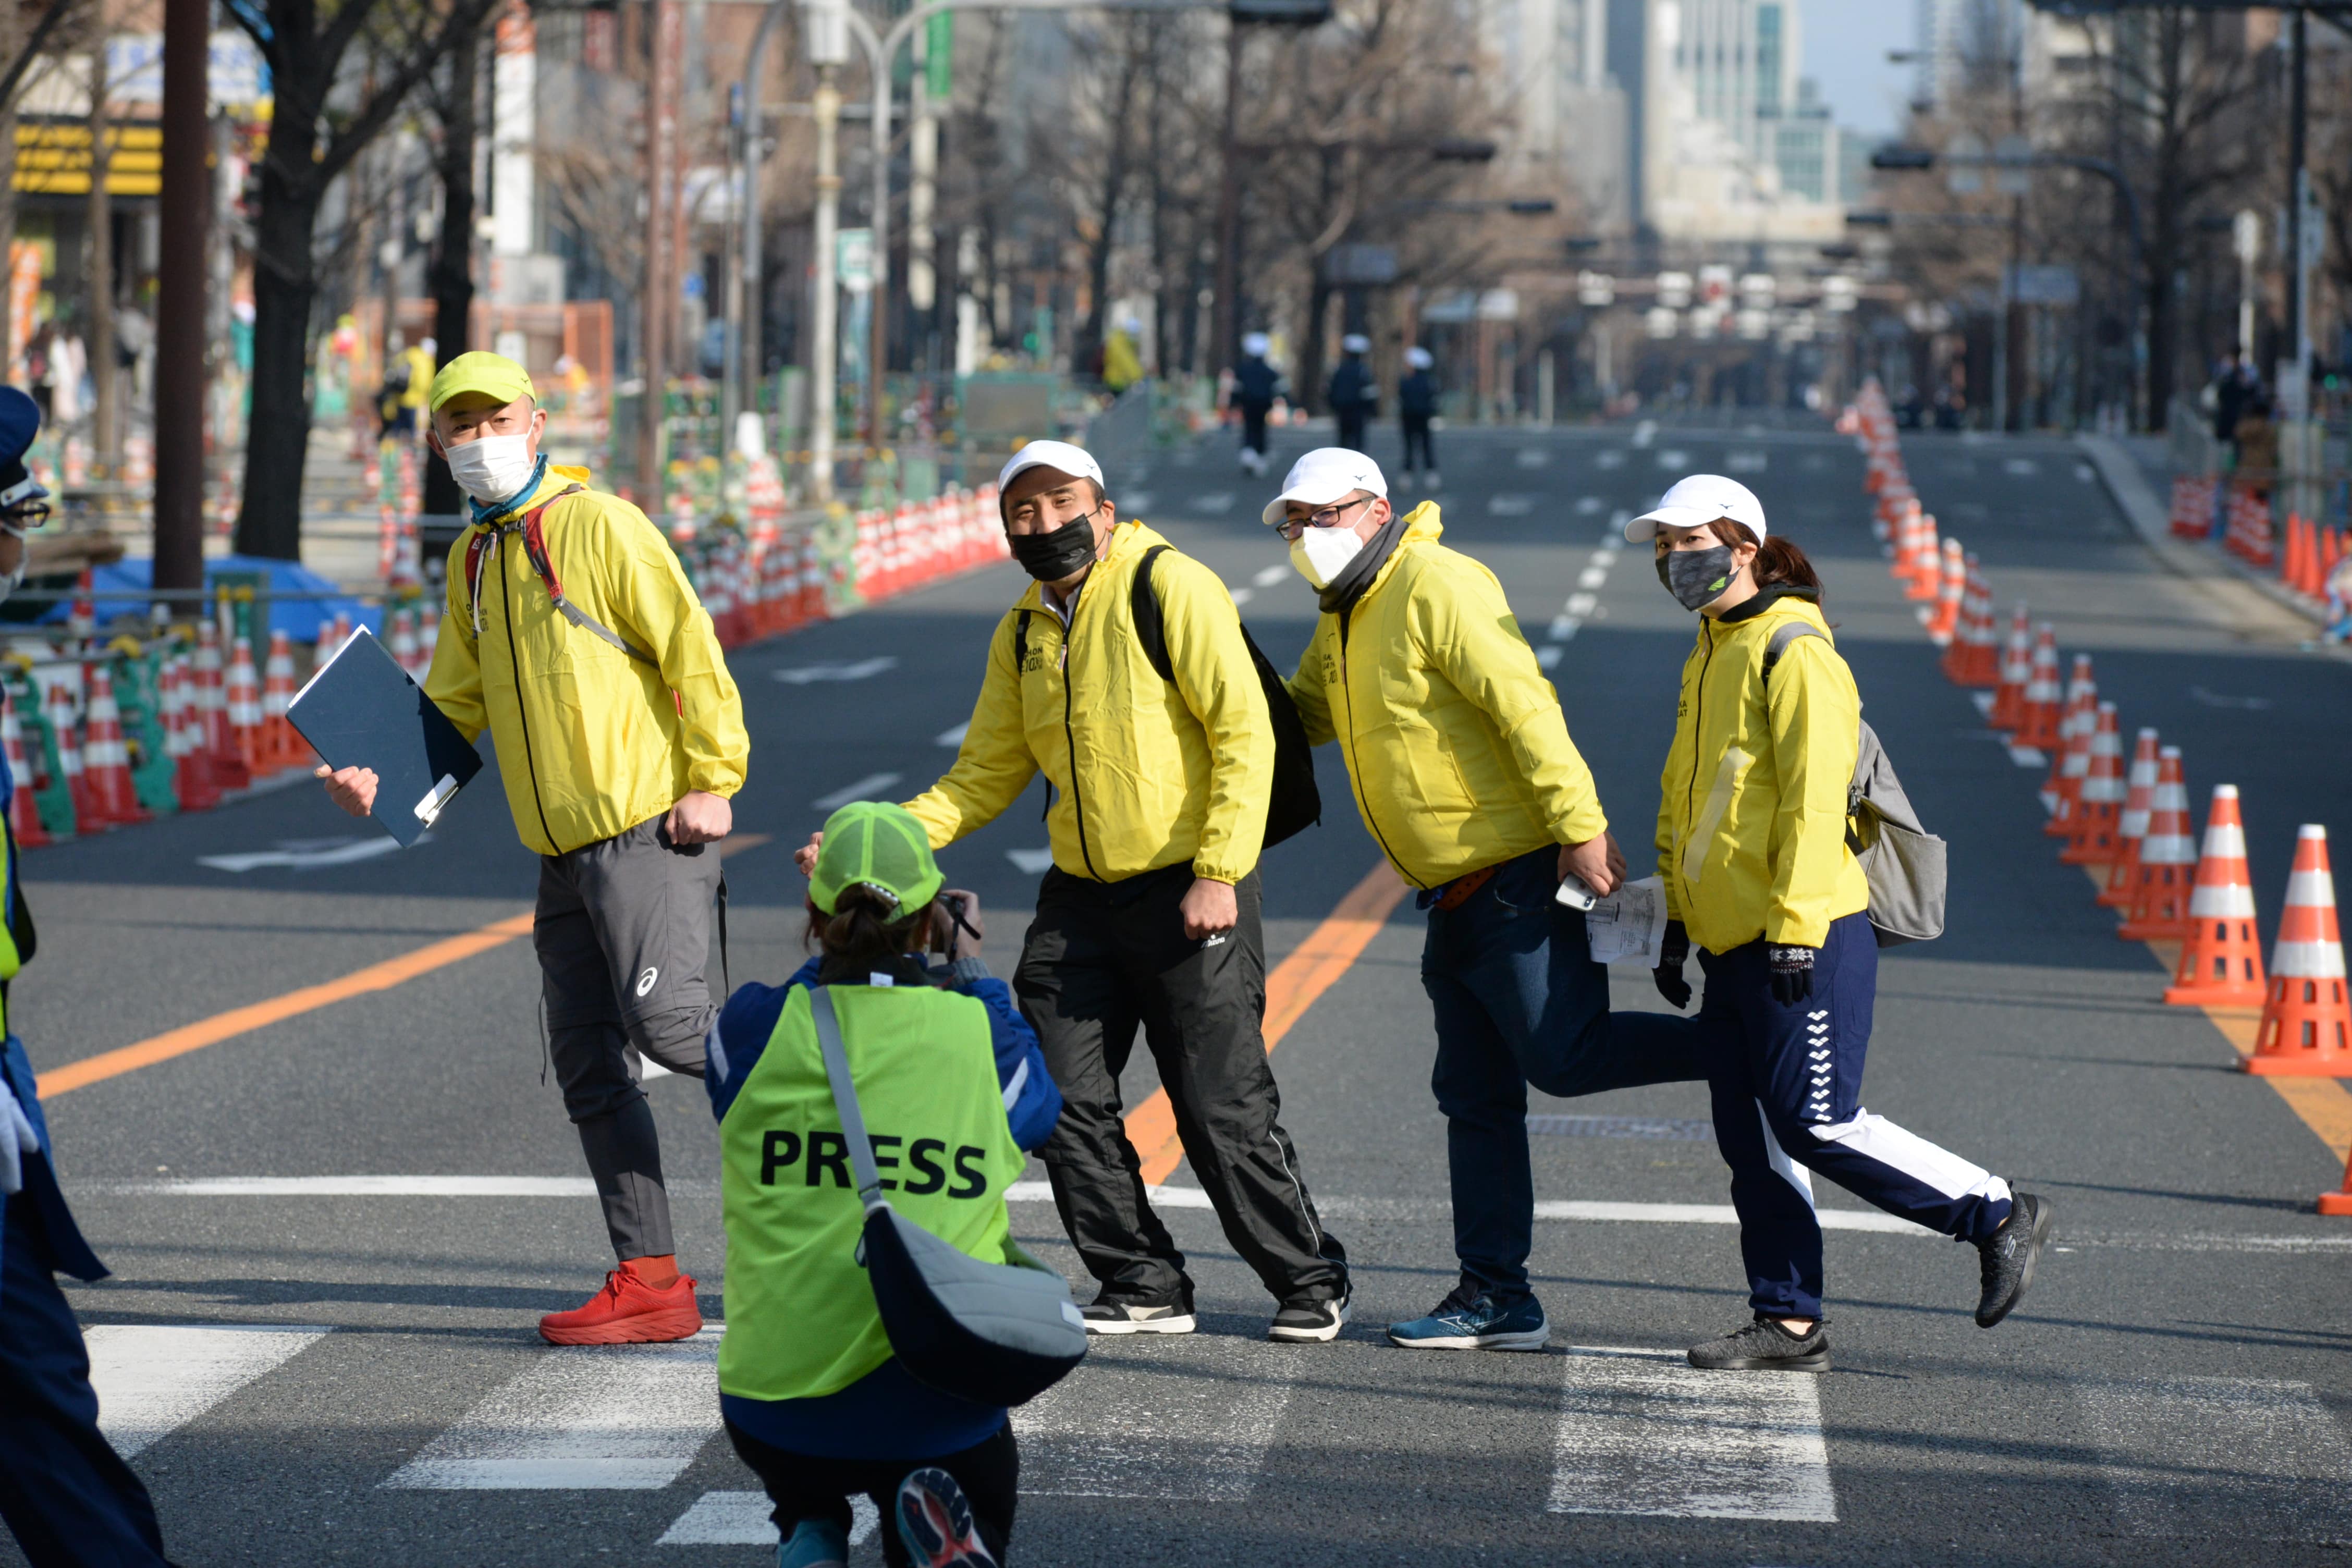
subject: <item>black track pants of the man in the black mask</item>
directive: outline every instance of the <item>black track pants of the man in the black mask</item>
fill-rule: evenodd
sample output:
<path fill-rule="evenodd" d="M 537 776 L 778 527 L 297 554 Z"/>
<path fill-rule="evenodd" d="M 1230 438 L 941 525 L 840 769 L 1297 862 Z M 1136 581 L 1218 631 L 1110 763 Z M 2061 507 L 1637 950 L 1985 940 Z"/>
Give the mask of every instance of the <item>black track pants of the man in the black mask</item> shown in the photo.
<path fill-rule="evenodd" d="M 1232 889 L 1240 924 L 1204 943 L 1183 933 L 1190 889 L 1190 865 L 1108 884 L 1049 870 L 1037 889 L 1014 992 L 1061 1086 L 1061 1124 L 1040 1150 L 1054 1204 L 1105 1300 L 1192 1298 L 1120 1124 L 1120 1070 L 1141 1025 L 1232 1251 L 1275 1300 L 1336 1298 L 1348 1251 L 1315 1215 L 1265 1063 L 1258 875 Z"/>

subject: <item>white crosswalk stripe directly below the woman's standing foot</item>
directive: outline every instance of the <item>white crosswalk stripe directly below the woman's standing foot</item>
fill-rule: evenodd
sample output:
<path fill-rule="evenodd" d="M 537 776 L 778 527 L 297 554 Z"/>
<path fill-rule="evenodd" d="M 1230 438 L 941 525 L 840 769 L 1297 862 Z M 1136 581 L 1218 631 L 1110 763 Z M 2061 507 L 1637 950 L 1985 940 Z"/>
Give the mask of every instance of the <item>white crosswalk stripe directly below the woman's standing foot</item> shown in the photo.
<path fill-rule="evenodd" d="M 1837 1523 L 1818 1378 L 1571 1347 L 1552 1455 L 1552 1514 Z"/>

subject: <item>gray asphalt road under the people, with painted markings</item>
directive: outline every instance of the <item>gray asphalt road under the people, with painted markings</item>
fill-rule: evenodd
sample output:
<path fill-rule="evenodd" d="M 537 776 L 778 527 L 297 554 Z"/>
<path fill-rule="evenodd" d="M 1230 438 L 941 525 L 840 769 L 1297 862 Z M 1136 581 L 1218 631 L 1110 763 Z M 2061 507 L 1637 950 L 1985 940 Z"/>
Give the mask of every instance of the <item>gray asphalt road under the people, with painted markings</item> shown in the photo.
<path fill-rule="evenodd" d="M 1691 618 L 1642 552 L 1606 543 L 1611 520 L 1682 473 L 1719 470 L 1813 552 L 1867 717 L 1952 844 L 1950 933 L 1886 957 L 1865 1098 L 2049 1194 L 2058 1251 L 2030 1302 L 1980 1333 L 1973 1253 L 1870 1229 L 1875 1213 L 1823 1185 L 1842 1220 L 1837 1371 L 1703 1378 L 1682 1349 L 1731 1328 L 1745 1298 L 1736 1232 L 1689 1213 L 1724 1204 L 1703 1086 L 1548 1103 L 1583 1119 L 1536 1138 L 1538 1197 L 1559 1215 L 1538 1222 L 1534 1258 L 1550 1352 L 1392 1349 L 1381 1324 L 1425 1312 L 1454 1279 L 1404 903 L 1275 1056 L 1305 1180 L 1357 1265 L 1355 1324 L 1327 1347 L 1263 1342 L 1270 1302 L 1178 1166 L 1164 1197 L 1202 1333 L 1105 1345 L 1016 1418 L 1016 1559 L 2340 1561 L 2352 1229 L 2310 1211 L 2340 1180 L 2340 1150 L 2232 1072 L 2204 1013 L 2157 1004 L 2157 959 L 2119 943 L 2082 872 L 2056 863 L 2039 776 L 1940 679 L 1879 564 L 1853 444 L 1788 421 L 1439 442 L 1446 541 L 1498 571 L 1548 649 L 1637 860 Z M 1305 444 L 1277 433 L 1277 463 Z M 1392 428 L 1374 447 L 1395 461 Z M 2241 595 L 2169 576 L 2065 442 L 1915 435 L 1907 454 L 1929 508 L 1983 555 L 2004 621 L 2023 595 L 2063 649 L 2093 651 L 2126 733 L 2157 724 L 2185 748 L 2199 813 L 2211 783 L 2241 785 L 2274 929 L 2296 825 L 2352 823 L 2352 668 L 2298 649 Z M 1312 597 L 1256 522 L 1272 484 L 1235 470 L 1230 437 L 1112 480 L 1124 512 L 1249 595 L 1277 663 L 1296 658 Z M 729 856 L 736 980 L 797 964 L 788 849 L 828 804 L 898 797 L 946 766 L 1016 590 L 1000 567 L 731 661 L 753 733 L 736 823 L 769 835 Z M 1324 752 L 1324 825 L 1265 863 L 1272 957 L 1376 863 L 1336 762 Z M 1000 971 L 1047 844 L 1030 802 L 943 856 L 990 912 Z M 303 865 L 205 863 L 256 853 Z M 294 788 L 38 851 L 26 875 L 42 943 L 12 1023 L 56 1070 L 506 922 L 529 907 L 536 867 L 485 778 L 409 853 L 374 856 Z M 1661 1006 L 1646 976 L 1618 999 Z M 1150 1086 L 1138 1065 L 1134 1100 Z M 691 1081 L 649 1093 L 682 1262 L 715 1319 L 710 1117 Z M 2328 1093 L 2352 1100 L 2324 1084 L 2305 1105 L 2340 1117 Z M 604 1237 L 543 1081 L 529 943 L 487 940 L 73 1088 L 49 1117 L 118 1269 L 73 1300 L 179 1561 L 771 1561 L 753 1544 L 755 1481 L 715 1436 L 708 1345 L 550 1352 L 534 1335 L 541 1312 L 595 1288 Z M 454 1185 L 494 1194 L 318 1192 L 353 1175 L 480 1178 Z M 515 1194 L 529 1178 L 548 1178 L 543 1197 Z M 1592 1204 L 1632 1208 L 1578 1218 Z M 1049 1204 L 1014 1218 L 1077 1272 Z M 875 1542 L 856 1561 L 877 1561 Z"/>

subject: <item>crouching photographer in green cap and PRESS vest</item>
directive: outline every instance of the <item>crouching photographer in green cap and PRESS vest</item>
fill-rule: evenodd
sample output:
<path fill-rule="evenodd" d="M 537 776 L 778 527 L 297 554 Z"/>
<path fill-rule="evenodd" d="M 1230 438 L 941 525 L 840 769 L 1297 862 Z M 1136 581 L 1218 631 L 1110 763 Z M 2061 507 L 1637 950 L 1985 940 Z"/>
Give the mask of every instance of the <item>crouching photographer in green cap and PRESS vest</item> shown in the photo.
<path fill-rule="evenodd" d="M 1061 1091 L 1004 980 L 978 957 L 971 893 L 941 891 L 922 823 L 854 802 L 809 875 L 809 943 L 783 985 L 743 985 L 710 1032 L 727 1218 L 720 1408 L 783 1537 L 779 1568 L 849 1559 L 849 1497 L 896 1528 L 894 1568 L 1004 1561 L 1021 1453 L 1000 1406 L 917 1382 L 858 1262 L 866 1208 L 809 1016 L 823 985 L 891 1206 L 1009 1260 L 1004 1192 L 1061 1117 Z M 950 961 L 929 966 L 924 952 Z"/>

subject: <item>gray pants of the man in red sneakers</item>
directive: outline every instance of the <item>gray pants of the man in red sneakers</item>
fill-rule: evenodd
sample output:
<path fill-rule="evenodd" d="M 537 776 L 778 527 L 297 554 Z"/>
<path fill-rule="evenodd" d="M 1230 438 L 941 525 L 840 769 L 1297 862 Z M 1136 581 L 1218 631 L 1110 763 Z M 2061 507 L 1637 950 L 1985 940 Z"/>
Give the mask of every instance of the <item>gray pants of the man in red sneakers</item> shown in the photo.
<path fill-rule="evenodd" d="M 703 978 L 717 886 L 720 846 L 670 844 L 659 816 L 539 858 L 532 945 L 548 1051 L 621 1260 L 677 1251 L 637 1058 L 703 1077 L 720 1011 Z"/>

